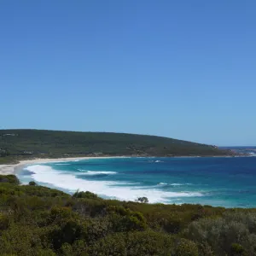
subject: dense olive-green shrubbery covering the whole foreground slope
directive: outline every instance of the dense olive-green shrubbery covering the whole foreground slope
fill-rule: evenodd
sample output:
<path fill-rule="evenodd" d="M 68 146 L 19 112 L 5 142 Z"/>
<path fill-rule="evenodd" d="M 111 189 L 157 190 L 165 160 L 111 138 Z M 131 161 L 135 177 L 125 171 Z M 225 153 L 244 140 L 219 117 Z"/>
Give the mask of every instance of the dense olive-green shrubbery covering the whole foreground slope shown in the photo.
<path fill-rule="evenodd" d="M 0 176 L 1 255 L 256 255 L 256 210 L 103 200 Z"/>

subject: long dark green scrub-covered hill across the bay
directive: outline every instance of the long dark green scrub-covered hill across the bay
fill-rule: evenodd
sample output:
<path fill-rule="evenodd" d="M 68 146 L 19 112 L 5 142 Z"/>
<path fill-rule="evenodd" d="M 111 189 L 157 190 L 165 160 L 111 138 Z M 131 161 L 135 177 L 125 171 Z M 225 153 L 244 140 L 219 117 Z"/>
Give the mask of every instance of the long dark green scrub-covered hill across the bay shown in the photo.
<path fill-rule="evenodd" d="M 211 156 L 230 151 L 167 137 L 112 132 L 0 130 L 0 155 L 63 157 L 82 155 Z"/>

